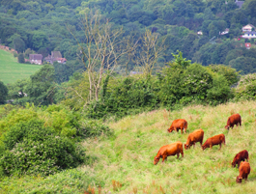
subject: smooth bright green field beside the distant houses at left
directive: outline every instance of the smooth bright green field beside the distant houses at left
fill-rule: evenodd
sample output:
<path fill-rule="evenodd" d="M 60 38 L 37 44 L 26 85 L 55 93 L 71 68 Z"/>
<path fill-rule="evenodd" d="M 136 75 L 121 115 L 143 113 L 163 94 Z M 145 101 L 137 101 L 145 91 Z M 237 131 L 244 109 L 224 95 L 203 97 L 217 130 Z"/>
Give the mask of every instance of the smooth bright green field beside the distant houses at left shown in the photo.
<path fill-rule="evenodd" d="M 12 53 L 0 49 L 0 81 L 4 84 L 27 78 L 41 68 L 38 65 L 19 64 Z"/>

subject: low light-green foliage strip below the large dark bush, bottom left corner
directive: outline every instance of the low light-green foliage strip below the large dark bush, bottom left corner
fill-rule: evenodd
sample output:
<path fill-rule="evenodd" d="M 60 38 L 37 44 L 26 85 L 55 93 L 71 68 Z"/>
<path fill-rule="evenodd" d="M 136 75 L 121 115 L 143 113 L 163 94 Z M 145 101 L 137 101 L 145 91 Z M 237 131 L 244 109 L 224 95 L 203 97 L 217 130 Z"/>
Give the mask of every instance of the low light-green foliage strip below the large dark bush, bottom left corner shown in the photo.
<path fill-rule="evenodd" d="M 0 192 L 7 193 L 84 193 L 89 185 L 103 187 L 104 180 L 100 180 L 95 174 L 80 169 L 70 169 L 48 177 L 24 176 L 20 179 L 6 178 L 0 181 Z M 19 186 L 17 186 L 19 185 Z M 22 185 L 22 186 L 20 186 Z"/>

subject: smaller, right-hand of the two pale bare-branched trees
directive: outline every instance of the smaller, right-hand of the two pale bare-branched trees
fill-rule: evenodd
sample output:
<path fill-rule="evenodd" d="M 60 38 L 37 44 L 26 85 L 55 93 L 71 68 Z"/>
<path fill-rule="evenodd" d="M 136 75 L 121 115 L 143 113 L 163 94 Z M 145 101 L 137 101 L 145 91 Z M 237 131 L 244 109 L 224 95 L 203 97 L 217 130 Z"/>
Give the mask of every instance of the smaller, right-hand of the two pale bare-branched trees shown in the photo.
<path fill-rule="evenodd" d="M 152 33 L 150 30 L 146 30 L 136 54 L 135 63 L 137 67 L 143 70 L 143 73 L 146 76 L 152 74 L 152 71 L 156 66 L 157 59 L 163 56 L 163 44 L 165 40 L 162 39 L 161 42 L 157 41 L 158 34 Z"/>

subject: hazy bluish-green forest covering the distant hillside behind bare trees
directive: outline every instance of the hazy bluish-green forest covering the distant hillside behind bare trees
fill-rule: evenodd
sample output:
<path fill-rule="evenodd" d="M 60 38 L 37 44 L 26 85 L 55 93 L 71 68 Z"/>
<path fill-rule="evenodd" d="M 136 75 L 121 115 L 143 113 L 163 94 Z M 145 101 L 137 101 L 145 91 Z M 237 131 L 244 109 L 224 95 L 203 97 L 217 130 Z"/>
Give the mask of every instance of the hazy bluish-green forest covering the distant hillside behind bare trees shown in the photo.
<path fill-rule="evenodd" d="M 139 40 L 147 29 L 156 33 L 165 48 L 157 59 L 159 68 L 180 50 L 185 58 L 204 66 L 230 65 L 245 74 L 256 70 L 254 40 L 245 40 L 253 44 L 249 50 L 244 40 L 238 41 L 242 26 L 256 25 L 256 0 L 246 0 L 242 8 L 235 0 L 0 0 L 0 5 L 2 44 L 25 55 L 35 51 L 45 57 L 59 50 L 73 71 L 83 69 L 77 41 L 85 40 L 82 19 L 89 11 L 99 11 L 112 29 L 123 28 L 122 38 Z M 219 35 L 226 28 L 229 33 Z M 128 70 L 134 67 L 130 60 Z"/>

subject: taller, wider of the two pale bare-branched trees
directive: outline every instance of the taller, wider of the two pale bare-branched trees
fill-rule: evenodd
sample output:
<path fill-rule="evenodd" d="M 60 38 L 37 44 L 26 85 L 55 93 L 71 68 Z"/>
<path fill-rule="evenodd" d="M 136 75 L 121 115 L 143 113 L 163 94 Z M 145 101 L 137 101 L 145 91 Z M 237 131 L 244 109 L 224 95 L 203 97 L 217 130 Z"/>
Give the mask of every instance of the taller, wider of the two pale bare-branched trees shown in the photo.
<path fill-rule="evenodd" d="M 109 20 L 103 19 L 99 12 L 85 14 L 82 30 L 85 42 L 78 41 L 70 32 L 79 45 L 81 59 L 87 69 L 90 83 L 89 100 L 99 100 L 103 76 L 112 74 L 120 57 L 131 52 L 133 46 L 125 46 L 128 40 L 121 38 L 123 29 L 112 29 Z"/>

